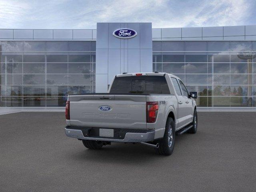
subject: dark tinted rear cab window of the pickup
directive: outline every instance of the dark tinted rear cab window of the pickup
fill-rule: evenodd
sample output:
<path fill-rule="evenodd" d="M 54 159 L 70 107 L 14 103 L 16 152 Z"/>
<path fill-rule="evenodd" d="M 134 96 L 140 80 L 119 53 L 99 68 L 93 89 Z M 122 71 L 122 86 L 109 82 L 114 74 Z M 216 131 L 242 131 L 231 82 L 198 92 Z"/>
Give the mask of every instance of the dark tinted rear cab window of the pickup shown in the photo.
<path fill-rule="evenodd" d="M 164 76 L 116 77 L 110 88 L 112 94 L 170 94 Z"/>

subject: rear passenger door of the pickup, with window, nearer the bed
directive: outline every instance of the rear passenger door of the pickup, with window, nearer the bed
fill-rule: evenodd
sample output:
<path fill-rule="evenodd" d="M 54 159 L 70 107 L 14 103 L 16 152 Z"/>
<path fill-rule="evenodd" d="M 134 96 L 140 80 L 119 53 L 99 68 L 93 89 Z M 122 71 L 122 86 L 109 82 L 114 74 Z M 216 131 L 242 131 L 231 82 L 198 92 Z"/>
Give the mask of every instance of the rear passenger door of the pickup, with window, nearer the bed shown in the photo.
<path fill-rule="evenodd" d="M 180 89 L 180 85 L 178 84 L 178 81 L 176 78 L 171 77 L 172 79 L 172 83 L 174 85 L 174 89 L 176 91 L 177 94 L 177 98 L 178 98 L 178 128 L 184 126 L 187 122 L 186 120 L 186 98 L 184 98 L 184 96 L 182 96 L 182 92 Z"/>

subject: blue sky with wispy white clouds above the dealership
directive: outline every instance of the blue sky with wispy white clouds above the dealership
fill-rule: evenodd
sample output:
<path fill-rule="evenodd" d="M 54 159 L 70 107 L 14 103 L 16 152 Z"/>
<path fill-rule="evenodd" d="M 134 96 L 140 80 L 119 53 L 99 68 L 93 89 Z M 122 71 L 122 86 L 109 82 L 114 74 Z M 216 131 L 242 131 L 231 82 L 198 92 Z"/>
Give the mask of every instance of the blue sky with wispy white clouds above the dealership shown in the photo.
<path fill-rule="evenodd" d="M 256 0 L 0 0 L 0 28 L 96 29 L 97 22 L 152 28 L 256 24 Z"/>

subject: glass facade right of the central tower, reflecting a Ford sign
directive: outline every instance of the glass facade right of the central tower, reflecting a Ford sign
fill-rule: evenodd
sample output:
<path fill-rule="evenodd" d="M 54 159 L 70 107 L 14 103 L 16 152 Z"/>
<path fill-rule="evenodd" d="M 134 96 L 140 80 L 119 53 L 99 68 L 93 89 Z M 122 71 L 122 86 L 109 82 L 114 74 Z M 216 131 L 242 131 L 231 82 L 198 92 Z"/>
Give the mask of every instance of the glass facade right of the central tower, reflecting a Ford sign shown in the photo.
<path fill-rule="evenodd" d="M 180 77 L 198 106 L 255 107 L 256 58 L 239 58 L 244 49 L 256 42 L 153 41 L 153 71 Z"/>

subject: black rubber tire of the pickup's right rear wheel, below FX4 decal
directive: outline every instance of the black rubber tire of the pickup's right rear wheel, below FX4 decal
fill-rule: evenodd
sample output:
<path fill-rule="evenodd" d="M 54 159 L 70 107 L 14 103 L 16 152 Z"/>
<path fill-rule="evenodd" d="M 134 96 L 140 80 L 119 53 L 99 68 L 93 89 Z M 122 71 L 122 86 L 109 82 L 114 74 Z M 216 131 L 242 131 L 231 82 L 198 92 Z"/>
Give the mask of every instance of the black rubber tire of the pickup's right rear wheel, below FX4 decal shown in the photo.
<path fill-rule="evenodd" d="M 170 130 L 172 130 L 172 143 L 169 146 L 168 135 L 170 133 Z M 169 117 L 167 118 L 167 121 L 166 121 L 164 138 L 162 138 L 159 141 L 159 148 L 157 149 L 157 152 L 160 155 L 170 155 L 174 150 L 174 144 L 175 144 L 175 124 L 174 124 L 174 120 Z"/>

